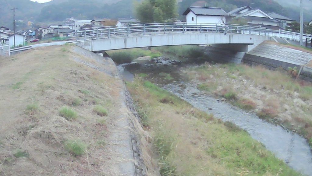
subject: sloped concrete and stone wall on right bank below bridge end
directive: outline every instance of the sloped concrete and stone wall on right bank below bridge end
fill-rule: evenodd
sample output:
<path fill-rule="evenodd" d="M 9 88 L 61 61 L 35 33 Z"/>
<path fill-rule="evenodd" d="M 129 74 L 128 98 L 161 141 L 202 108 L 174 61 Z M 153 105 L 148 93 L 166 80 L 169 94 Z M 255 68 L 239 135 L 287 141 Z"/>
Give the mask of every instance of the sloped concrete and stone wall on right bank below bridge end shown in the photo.
<path fill-rule="evenodd" d="M 247 53 L 214 46 L 204 48 L 205 54 L 215 62 L 246 63 L 263 65 L 269 69 L 283 68 L 284 70 L 288 70 L 289 67 L 297 67 L 301 79 L 312 81 L 312 68 L 306 66 L 312 61 L 310 53 L 266 42 Z"/>

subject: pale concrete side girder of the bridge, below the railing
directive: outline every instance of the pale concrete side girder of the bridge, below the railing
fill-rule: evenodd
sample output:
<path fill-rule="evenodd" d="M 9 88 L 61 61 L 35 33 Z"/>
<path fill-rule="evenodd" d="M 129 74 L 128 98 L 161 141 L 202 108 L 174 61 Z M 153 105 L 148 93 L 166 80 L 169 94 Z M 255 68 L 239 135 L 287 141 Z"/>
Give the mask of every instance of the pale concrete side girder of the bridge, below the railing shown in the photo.
<path fill-rule="evenodd" d="M 76 42 L 89 51 L 108 51 L 127 48 L 141 48 L 153 46 L 173 46 L 173 45 L 205 45 L 215 44 L 217 46 L 228 47 L 235 51 L 248 52 L 254 46 L 268 40 L 270 37 L 256 35 L 242 35 L 231 33 L 178 33 L 178 34 L 158 34 L 129 37 L 113 37 L 90 41 Z"/>

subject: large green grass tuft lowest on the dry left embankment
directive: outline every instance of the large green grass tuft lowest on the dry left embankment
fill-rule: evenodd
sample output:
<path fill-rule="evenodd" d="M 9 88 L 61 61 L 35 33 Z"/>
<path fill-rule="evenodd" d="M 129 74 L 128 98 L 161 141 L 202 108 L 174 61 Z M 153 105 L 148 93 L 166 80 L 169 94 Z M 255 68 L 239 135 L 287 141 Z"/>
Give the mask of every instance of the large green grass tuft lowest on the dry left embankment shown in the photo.
<path fill-rule="evenodd" d="M 80 140 L 68 140 L 65 142 L 64 149 L 70 154 L 81 156 L 85 153 L 87 145 Z"/>

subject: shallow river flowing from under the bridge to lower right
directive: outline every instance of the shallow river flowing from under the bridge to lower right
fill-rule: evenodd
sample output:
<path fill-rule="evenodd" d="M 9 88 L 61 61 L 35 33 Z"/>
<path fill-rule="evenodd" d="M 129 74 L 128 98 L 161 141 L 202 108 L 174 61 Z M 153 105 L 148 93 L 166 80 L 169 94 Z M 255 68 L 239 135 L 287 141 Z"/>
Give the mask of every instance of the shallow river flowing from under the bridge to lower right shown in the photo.
<path fill-rule="evenodd" d="M 213 113 L 216 118 L 231 121 L 246 130 L 253 139 L 260 141 L 275 156 L 284 160 L 293 169 L 312 176 L 312 152 L 306 139 L 298 134 L 289 132 L 279 125 L 273 125 L 236 108 L 227 102 L 217 101 L 216 98 L 202 93 L 196 85 L 180 75 L 183 66 L 162 66 L 155 64 L 123 64 L 118 69 L 125 81 L 133 81 L 134 74 L 145 73 L 146 79 L 158 84 L 163 89 L 172 92 L 194 107 Z M 173 80 L 165 80 L 159 73 L 170 73 Z"/>

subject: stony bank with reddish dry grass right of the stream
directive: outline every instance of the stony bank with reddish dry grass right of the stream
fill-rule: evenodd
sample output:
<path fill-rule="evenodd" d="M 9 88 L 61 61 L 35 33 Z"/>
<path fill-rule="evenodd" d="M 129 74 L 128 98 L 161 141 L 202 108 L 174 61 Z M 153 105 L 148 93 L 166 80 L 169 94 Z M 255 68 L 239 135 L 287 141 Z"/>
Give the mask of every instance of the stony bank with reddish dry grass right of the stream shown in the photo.
<path fill-rule="evenodd" d="M 206 63 L 185 71 L 197 87 L 277 122 L 312 142 L 312 84 L 261 66 Z"/>

